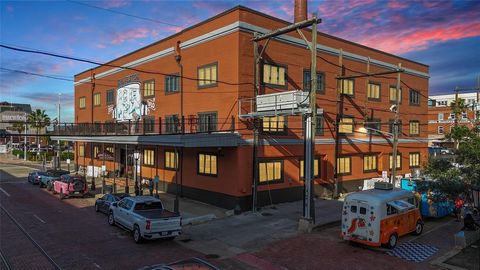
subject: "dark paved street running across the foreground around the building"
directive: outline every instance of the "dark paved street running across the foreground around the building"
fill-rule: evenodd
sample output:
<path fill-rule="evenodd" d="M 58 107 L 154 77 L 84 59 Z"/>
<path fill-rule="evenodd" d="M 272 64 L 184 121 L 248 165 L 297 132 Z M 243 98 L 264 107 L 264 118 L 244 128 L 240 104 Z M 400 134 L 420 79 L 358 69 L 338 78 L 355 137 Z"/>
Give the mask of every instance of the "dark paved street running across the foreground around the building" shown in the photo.
<path fill-rule="evenodd" d="M 453 247 L 453 233 L 461 226 L 451 218 L 427 220 L 421 236 L 400 238 L 399 245 L 438 248 L 420 263 L 389 256 L 387 249 L 342 241 L 335 222 L 311 234 L 298 233 L 296 217 L 281 214 L 288 205 L 188 226 L 175 241 L 137 245 L 130 233 L 108 226 L 106 216 L 93 210 L 91 198 L 61 201 L 28 183 L 29 170 L 2 164 L 1 269 L 138 269 L 190 257 L 221 269 L 436 269 L 429 262 Z M 333 201 L 323 203 L 331 208 Z"/>

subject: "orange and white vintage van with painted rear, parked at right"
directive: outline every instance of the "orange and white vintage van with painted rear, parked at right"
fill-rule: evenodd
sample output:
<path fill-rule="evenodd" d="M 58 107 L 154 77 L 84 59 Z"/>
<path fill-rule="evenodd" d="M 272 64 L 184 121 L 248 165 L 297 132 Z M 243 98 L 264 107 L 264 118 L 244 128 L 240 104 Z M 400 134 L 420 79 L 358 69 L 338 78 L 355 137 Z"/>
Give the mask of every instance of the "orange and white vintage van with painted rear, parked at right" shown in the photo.
<path fill-rule="evenodd" d="M 422 217 L 411 191 L 376 183 L 374 189 L 345 197 L 341 232 L 344 240 L 394 248 L 398 237 L 422 231 Z"/>

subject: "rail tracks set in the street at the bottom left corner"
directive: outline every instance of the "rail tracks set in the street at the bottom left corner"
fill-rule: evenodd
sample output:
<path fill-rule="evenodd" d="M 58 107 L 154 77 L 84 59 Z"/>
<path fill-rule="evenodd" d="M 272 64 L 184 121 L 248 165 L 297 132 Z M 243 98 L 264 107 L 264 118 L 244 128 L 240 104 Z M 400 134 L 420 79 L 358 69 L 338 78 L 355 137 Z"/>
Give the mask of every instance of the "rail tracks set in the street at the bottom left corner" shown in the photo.
<path fill-rule="evenodd" d="M 10 270 L 10 269 L 19 269 L 19 268 L 23 268 L 22 266 L 25 266 L 25 265 L 22 265 L 22 263 L 25 263 L 25 261 L 23 260 L 24 258 L 22 258 L 21 256 L 18 257 L 19 254 L 16 254 L 17 255 L 17 258 L 14 258 L 12 261 L 10 261 L 10 258 L 14 257 L 13 254 L 10 254 L 10 256 L 8 256 L 8 251 L 10 250 L 10 248 L 15 248 L 15 244 L 17 245 L 21 245 L 21 249 L 23 252 L 25 253 L 28 253 L 27 251 L 29 251 L 29 248 L 30 249 L 33 249 L 35 250 L 36 249 L 36 253 L 37 253 L 37 257 L 43 257 L 44 258 L 44 261 L 43 261 L 43 264 L 42 264 L 42 261 L 36 261 L 36 266 L 38 266 L 38 269 L 57 269 L 57 270 L 60 270 L 62 269 L 56 262 L 55 260 L 53 260 L 53 258 L 45 251 L 45 249 L 42 248 L 42 246 L 40 246 L 40 244 L 35 241 L 35 239 L 31 236 L 30 233 L 28 233 L 25 228 L 15 219 L 15 217 L 13 217 L 13 215 L 7 210 L 5 209 L 5 207 L 3 207 L 3 205 L 0 204 L 0 208 L 1 208 L 1 211 L 3 213 L 5 213 L 5 215 L 8 217 L 8 220 L 11 221 L 11 224 L 14 225 L 14 227 L 16 229 L 18 229 L 18 231 L 20 231 L 24 236 L 25 236 L 25 240 L 28 240 L 28 241 L 24 241 L 24 242 L 29 242 L 32 246 L 28 247 L 28 246 L 23 246 L 21 244 L 23 243 L 17 243 L 17 242 L 21 242 L 21 239 L 18 239 L 17 237 L 15 237 L 15 243 L 14 242 L 10 242 L 8 241 L 7 239 L 3 239 L 5 241 L 2 241 L 2 247 L 0 248 L 0 257 L 1 257 L 1 260 L 2 260 L 2 264 L 3 266 L 7 269 L 7 270 Z M 7 227 L 8 224 L 5 224 L 5 219 L 3 219 L 2 221 L 2 226 L 3 227 Z M 16 234 L 18 234 L 18 231 Z M 15 232 L 14 231 L 10 231 L 11 234 L 14 234 Z M 4 236 L 2 236 L 2 238 L 7 238 L 7 236 L 4 234 Z M 8 245 L 12 245 L 11 247 L 9 248 L 5 248 L 5 246 L 8 246 Z M 28 257 L 33 257 L 32 254 L 26 254 Z M 40 255 L 40 256 L 39 256 Z M 45 261 L 46 259 L 46 261 Z M 16 265 L 18 264 L 18 265 Z"/>

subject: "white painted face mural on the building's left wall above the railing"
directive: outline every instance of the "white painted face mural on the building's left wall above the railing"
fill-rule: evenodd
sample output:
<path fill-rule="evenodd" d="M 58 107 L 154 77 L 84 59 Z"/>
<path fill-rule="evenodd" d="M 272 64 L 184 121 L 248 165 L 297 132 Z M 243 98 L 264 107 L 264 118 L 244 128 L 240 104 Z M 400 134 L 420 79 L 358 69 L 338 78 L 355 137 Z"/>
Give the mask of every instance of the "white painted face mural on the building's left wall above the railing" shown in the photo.
<path fill-rule="evenodd" d="M 137 120 L 141 116 L 140 84 L 131 83 L 117 89 L 118 121 Z"/>

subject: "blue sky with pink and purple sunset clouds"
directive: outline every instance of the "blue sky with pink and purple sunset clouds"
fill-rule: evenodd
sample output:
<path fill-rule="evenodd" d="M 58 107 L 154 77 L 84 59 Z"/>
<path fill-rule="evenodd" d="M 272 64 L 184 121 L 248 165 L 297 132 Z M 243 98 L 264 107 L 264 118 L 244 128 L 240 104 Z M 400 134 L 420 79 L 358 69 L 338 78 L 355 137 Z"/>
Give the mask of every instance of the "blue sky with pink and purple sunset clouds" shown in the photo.
<path fill-rule="evenodd" d="M 293 0 L 0 0 L 0 44 L 107 62 L 236 5 L 293 21 Z M 321 32 L 429 65 L 430 95 L 476 86 L 478 0 L 315 0 L 308 12 L 322 19 Z M 61 94 L 62 122 L 73 121 L 73 75 L 92 67 L 0 48 L 0 101 L 32 104 L 53 119 Z"/>

